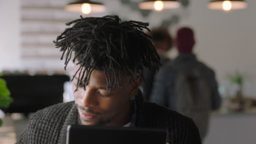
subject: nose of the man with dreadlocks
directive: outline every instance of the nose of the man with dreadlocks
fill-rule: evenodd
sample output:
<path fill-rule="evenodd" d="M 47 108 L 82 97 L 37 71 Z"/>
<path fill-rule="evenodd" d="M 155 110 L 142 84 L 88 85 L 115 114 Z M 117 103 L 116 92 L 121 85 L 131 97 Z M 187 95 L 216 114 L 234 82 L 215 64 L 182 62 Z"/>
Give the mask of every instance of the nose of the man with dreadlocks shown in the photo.
<path fill-rule="evenodd" d="M 97 92 L 95 89 L 86 87 L 81 100 L 84 107 L 95 107 L 98 105 Z"/>

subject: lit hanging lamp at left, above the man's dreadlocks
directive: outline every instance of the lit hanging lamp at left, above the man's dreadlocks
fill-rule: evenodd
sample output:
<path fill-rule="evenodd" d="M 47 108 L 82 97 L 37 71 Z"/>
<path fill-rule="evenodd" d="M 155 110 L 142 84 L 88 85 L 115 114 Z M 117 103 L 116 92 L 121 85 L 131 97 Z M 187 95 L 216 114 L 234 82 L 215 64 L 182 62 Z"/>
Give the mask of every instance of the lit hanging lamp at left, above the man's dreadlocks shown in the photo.
<path fill-rule="evenodd" d="M 89 0 L 79 0 L 69 3 L 66 5 L 65 9 L 84 14 L 101 13 L 106 10 L 102 3 L 91 2 Z"/>

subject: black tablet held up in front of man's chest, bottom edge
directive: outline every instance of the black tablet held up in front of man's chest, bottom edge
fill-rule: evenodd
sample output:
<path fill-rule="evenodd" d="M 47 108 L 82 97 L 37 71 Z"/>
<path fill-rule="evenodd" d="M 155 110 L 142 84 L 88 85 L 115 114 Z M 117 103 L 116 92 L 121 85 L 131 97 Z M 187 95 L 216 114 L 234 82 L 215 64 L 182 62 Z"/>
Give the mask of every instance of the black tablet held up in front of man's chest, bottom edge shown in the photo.
<path fill-rule="evenodd" d="M 67 144 L 166 144 L 165 129 L 68 125 Z"/>

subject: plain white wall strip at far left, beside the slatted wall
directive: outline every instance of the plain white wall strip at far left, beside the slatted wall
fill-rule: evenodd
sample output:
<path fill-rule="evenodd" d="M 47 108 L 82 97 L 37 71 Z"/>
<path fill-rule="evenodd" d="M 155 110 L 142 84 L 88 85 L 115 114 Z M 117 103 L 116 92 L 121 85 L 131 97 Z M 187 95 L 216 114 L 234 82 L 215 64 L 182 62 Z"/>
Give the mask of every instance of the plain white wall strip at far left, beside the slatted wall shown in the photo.
<path fill-rule="evenodd" d="M 20 1 L 0 1 L 0 71 L 20 63 Z"/>

